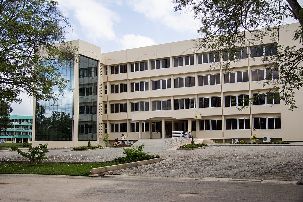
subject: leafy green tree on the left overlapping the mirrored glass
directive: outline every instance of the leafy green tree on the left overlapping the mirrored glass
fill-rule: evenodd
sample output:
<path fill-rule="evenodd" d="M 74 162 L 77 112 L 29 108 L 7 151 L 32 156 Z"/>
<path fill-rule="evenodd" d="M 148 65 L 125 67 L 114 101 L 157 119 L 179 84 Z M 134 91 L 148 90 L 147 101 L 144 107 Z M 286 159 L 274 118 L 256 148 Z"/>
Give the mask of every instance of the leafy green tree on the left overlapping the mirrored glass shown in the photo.
<path fill-rule="evenodd" d="M 7 106 L 27 93 L 42 100 L 56 99 L 68 80 L 59 67 L 72 62 L 77 48 L 65 41 L 67 18 L 53 0 L 0 1 L 0 99 Z M 42 54 L 43 52 L 43 54 Z"/>

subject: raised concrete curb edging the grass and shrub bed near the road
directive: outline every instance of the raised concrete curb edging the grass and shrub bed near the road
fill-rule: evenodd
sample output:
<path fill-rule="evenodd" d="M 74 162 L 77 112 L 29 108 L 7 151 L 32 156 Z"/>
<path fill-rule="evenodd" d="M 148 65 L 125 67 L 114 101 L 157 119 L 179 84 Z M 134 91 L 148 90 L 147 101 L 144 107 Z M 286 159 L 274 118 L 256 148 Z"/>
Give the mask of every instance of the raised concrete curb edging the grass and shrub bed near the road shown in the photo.
<path fill-rule="evenodd" d="M 120 164 L 120 165 L 92 168 L 91 175 L 100 174 L 100 173 L 104 173 L 104 172 L 108 172 L 108 171 L 117 171 L 117 170 L 121 170 L 121 169 L 125 169 L 125 168 L 138 167 L 138 166 L 142 166 L 142 165 L 146 165 L 146 164 L 158 163 L 160 161 L 163 161 L 162 157 L 149 159 L 149 160 L 145 160 L 145 161 L 136 161 L 136 162 L 132 162 L 132 163 Z"/>

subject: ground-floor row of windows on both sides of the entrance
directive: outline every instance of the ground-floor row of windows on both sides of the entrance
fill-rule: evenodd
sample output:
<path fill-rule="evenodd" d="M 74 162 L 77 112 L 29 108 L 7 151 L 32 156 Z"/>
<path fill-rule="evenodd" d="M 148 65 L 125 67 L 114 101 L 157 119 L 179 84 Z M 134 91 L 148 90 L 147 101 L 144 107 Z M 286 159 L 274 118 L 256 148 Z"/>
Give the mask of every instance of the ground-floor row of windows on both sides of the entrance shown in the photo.
<path fill-rule="evenodd" d="M 255 129 L 281 129 L 280 117 L 253 118 Z M 107 133 L 107 124 L 105 124 Z M 196 121 L 191 122 L 192 131 L 196 130 Z M 130 132 L 139 132 L 139 123 L 130 123 Z M 160 132 L 160 122 L 151 122 L 151 132 Z M 250 118 L 225 119 L 225 130 L 250 130 Z M 221 131 L 222 119 L 200 120 L 199 131 Z M 111 133 L 127 132 L 127 123 L 111 124 Z M 142 122 L 142 132 L 149 132 L 149 122 Z"/>

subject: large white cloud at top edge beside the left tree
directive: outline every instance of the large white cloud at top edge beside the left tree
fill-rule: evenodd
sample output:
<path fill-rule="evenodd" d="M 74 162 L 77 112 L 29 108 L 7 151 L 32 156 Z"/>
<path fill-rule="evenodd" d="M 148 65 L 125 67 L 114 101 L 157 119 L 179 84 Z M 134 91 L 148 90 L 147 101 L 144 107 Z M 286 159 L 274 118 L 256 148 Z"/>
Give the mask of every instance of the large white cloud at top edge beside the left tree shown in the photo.
<path fill-rule="evenodd" d="M 85 38 L 92 40 L 90 41 L 92 43 L 98 40 L 115 39 L 113 25 L 120 18 L 117 13 L 106 8 L 100 2 L 96 0 L 58 0 L 58 3 L 59 9 L 67 17 L 77 21 L 75 23 L 78 24 L 78 27 L 72 28 L 74 32 L 81 32 L 82 35 L 85 35 Z M 68 30 L 68 32 L 70 31 Z"/>

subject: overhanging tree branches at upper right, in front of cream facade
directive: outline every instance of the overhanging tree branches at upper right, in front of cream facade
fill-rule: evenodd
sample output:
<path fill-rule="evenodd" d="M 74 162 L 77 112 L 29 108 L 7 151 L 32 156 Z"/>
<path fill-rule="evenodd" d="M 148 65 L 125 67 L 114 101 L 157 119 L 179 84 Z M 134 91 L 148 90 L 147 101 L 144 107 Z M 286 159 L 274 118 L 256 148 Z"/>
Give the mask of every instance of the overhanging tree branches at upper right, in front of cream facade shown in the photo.
<path fill-rule="evenodd" d="M 232 71 L 239 50 L 246 46 L 261 45 L 263 39 L 278 44 L 278 52 L 263 57 L 265 68 L 278 70 L 278 80 L 269 92 L 280 94 L 290 110 L 297 108 L 295 92 L 303 86 L 303 48 L 279 45 L 279 29 L 285 18 L 298 20 L 298 29 L 290 36 L 303 45 L 303 9 L 296 0 L 172 0 L 175 11 L 185 8 L 194 12 L 201 22 L 197 50 L 225 52 L 231 59 L 221 63 L 221 68 Z M 228 52 L 227 52 L 228 51 Z M 223 55 L 224 56 L 224 55 Z M 215 64 L 213 64 L 215 65 Z"/>

